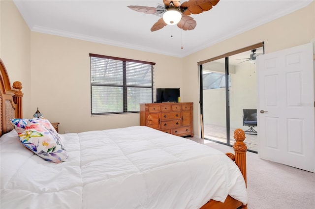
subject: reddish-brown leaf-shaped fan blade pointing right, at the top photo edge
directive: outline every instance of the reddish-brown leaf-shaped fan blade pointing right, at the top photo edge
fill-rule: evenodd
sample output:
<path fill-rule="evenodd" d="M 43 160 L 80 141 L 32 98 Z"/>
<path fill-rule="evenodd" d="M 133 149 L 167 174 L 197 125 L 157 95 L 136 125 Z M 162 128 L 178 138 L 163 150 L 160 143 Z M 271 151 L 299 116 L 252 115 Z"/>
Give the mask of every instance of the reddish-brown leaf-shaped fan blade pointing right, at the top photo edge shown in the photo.
<path fill-rule="evenodd" d="M 181 11 L 184 15 L 200 14 L 210 10 L 220 0 L 189 0 L 181 4 Z"/>

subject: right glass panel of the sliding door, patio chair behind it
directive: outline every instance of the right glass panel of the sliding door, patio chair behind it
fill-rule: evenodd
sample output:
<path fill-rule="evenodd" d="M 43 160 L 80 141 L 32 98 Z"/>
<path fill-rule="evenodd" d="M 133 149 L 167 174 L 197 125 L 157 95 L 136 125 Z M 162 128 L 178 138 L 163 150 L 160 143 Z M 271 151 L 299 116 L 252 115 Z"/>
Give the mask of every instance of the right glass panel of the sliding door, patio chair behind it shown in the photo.
<path fill-rule="evenodd" d="M 229 57 L 229 74 L 233 81 L 229 87 L 230 139 L 233 145 L 235 129 L 245 131 L 248 150 L 257 152 L 257 85 L 255 60 L 251 51 Z M 262 54 L 263 48 L 255 50 Z M 248 124 L 246 121 L 250 121 Z"/>

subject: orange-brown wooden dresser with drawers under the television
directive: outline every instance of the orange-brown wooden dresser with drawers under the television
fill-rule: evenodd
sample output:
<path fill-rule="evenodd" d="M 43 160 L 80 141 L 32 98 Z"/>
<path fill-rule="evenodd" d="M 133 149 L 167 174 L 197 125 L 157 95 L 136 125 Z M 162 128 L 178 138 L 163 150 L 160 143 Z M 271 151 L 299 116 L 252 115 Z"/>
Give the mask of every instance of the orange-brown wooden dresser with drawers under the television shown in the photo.
<path fill-rule="evenodd" d="M 192 103 L 140 104 L 140 126 L 193 137 Z"/>

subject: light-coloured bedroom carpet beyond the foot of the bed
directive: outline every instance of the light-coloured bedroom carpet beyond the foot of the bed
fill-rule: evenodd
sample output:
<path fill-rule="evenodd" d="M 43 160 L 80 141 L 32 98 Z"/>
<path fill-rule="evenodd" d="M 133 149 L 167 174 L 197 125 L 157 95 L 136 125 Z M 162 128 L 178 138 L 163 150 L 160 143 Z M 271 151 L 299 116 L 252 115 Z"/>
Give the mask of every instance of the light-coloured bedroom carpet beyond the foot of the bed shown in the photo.
<path fill-rule="evenodd" d="M 188 138 L 223 153 L 234 153 L 226 145 Z M 314 173 L 260 159 L 251 152 L 247 153 L 247 189 L 249 209 L 315 208 Z"/>

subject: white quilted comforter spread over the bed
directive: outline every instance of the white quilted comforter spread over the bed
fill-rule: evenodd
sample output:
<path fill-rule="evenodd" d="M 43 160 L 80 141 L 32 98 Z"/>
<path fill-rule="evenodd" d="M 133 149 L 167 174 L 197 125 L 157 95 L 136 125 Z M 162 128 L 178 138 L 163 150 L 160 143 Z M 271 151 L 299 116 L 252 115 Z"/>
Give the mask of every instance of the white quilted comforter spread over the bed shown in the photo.
<path fill-rule="evenodd" d="M 247 203 L 235 163 L 220 151 L 148 127 L 61 135 L 68 161 L 0 139 L 0 208 L 197 209 L 229 194 Z"/>

